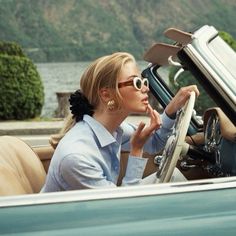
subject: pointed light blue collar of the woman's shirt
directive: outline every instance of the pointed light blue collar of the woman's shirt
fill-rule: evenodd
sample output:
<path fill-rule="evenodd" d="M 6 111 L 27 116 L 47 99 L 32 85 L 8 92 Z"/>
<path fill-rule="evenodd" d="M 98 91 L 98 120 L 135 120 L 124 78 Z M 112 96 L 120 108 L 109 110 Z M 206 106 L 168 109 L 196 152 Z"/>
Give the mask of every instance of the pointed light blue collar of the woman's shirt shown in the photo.
<path fill-rule="evenodd" d="M 84 115 L 83 120 L 89 125 L 91 130 L 94 132 L 97 137 L 101 147 L 107 146 L 111 143 L 115 143 L 118 140 L 121 140 L 122 129 L 119 127 L 117 129 L 116 138 L 97 120 L 89 115 Z"/>

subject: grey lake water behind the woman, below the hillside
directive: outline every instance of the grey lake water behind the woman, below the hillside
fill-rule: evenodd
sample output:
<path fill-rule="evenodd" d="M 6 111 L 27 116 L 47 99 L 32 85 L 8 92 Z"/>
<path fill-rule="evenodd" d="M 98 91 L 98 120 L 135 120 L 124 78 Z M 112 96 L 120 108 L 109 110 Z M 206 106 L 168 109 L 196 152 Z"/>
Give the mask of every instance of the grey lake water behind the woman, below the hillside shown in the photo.
<path fill-rule="evenodd" d="M 58 107 L 56 92 L 71 92 L 79 88 L 79 80 L 90 62 L 40 63 L 36 64 L 44 84 L 45 102 L 42 117 L 54 117 Z M 142 70 L 147 62 L 139 61 Z M 164 74 L 168 73 L 163 71 Z"/>

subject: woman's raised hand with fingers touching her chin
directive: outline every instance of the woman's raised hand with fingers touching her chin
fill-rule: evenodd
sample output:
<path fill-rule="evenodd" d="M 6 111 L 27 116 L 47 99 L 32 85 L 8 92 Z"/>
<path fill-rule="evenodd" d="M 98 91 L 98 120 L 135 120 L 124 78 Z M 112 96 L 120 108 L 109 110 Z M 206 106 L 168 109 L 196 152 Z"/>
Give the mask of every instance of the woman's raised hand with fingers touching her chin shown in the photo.
<path fill-rule="evenodd" d="M 150 115 L 150 123 L 146 125 L 145 123 L 141 122 L 134 132 L 133 136 L 131 137 L 131 151 L 130 155 L 132 156 L 142 156 L 143 153 L 143 146 L 151 136 L 151 134 L 156 130 L 159 129 L 162 125 L 161 117 L 159 113 L 152 109 L 150 105 L 147 107 L 147 113 Z"/>

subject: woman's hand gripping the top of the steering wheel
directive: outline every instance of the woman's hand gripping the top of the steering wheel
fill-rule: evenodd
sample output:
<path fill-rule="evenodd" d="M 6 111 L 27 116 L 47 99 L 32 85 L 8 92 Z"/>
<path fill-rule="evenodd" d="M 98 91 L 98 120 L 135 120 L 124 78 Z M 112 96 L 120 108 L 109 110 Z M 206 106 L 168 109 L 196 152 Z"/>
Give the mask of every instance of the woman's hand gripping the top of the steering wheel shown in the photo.
<path fill-rule="evenodd" d="M 196 85 L 182 87 L 167 105 L 165 112 L 169 117 L 175 116 L 175 113 L 184 106 L 189 99 L 191 92 L 194 91 L 196 96 L 199 96 L 199 91 Z"/>

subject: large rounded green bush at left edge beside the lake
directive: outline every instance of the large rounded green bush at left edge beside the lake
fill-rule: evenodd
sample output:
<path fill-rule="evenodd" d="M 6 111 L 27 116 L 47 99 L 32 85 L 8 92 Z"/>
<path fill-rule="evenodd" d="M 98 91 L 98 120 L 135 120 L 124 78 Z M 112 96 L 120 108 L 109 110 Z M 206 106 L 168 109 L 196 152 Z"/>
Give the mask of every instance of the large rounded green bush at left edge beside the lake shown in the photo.
<path fill-rule="evenodd" d="M 3 42 L 0 45 L 6 49 L 0 54 L 0 120 L 39 116 L 44 91 L 35 65 L 23 56 L 19 46 L 6 43 L 5 47 Z"/>

